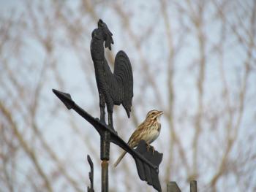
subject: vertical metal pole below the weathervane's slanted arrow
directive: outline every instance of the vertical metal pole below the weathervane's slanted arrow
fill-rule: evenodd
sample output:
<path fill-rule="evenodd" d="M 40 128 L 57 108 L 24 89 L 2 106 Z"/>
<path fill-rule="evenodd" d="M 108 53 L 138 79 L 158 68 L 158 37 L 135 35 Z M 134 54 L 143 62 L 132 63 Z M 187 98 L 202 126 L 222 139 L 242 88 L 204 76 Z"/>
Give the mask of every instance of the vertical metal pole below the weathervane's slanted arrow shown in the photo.
<path fill-rule="evenodd" d="M 108 192 L 108 160 L 110 133 L 105 131 L 100 137 L 100 159 L 102 160 L 102 192 Z"/>

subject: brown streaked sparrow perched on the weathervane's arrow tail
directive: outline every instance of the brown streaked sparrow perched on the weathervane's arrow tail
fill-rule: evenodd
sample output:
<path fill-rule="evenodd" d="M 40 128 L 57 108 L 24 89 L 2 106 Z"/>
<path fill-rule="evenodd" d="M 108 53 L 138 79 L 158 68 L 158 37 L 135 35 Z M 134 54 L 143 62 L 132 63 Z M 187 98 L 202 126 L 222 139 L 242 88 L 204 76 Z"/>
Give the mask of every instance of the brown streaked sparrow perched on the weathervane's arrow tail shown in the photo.
<path fill-rule="evenodd" d="M 154 142 L 155 139 L 159 136 L 161 130 L 161 123 L 159 117 L 163 114 L 162 111 L 151 110 L 146 115 L 146 119 L 141 123 L 138 128 L 133 132 L 132 136 L 129 138 L 128 145 L 132 148 L 137 147 L 140 140 L 144 140 L 148 146 L 151 142 Z M 121 153 L 120 157 L 117 159 L 116 163 L 113 164 L 116 167 L 124 155 L 127 152 L 124 151 Z"/>

